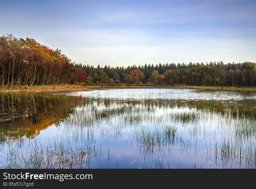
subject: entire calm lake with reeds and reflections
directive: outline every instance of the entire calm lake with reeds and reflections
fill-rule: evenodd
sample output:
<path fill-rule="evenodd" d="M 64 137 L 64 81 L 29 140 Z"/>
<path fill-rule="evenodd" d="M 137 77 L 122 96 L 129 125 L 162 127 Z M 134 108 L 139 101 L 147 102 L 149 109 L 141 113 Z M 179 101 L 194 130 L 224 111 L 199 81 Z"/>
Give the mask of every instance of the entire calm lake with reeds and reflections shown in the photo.
<path fill-rule="evenodd" d="M 256 93 L 0 93 L 1 168 L 255 168 Z"/>

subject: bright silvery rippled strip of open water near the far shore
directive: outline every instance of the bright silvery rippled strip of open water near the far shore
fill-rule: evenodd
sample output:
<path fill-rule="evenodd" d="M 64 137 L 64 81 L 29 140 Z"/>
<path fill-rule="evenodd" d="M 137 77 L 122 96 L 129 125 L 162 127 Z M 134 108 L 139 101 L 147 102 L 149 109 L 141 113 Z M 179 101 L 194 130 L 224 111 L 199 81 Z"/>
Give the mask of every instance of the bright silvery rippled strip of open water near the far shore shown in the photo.
<path fill-rule="evenodd" d="M 111 99 L 170 99 L 170 100 L 243 100 L 256 99 L 256 93 L 209 91 L 202 89 L 91 89 L 70 93 L 68 96 Z"/>

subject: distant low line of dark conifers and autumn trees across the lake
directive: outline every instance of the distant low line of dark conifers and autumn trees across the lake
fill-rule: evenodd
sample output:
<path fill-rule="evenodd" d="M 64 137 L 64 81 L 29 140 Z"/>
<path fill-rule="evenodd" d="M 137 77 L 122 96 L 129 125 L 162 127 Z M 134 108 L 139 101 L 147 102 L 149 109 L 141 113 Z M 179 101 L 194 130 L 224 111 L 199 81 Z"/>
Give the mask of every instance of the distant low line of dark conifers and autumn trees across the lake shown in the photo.
<path fill-rule="evenodd" d="M 145 64 L 143 66 L 110 67 L 76 64 L 86 72 L 87 83 L 146 84 L 146 85 L 206 85 L 206 86 L 256 86 L 254 62 L 222 61 L 189 64 Z"/>

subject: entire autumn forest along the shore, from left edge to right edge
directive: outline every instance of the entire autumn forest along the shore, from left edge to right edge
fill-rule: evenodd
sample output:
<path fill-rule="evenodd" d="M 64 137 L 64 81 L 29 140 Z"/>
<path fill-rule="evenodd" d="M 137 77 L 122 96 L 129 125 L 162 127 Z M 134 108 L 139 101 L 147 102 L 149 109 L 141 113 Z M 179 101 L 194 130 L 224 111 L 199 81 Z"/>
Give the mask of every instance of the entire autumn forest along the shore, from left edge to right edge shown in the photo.
<path fill-rule="evenodd" d="M 0 37 L 0 85 L 33 86 L 49 84 L 136 84 L 146 86 L 204 85 L 256 86 L 255 62 L 165 63 L 139 66 L 76 64 L 35 39 Z"/>

